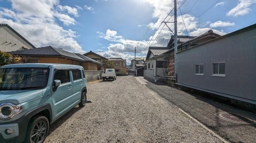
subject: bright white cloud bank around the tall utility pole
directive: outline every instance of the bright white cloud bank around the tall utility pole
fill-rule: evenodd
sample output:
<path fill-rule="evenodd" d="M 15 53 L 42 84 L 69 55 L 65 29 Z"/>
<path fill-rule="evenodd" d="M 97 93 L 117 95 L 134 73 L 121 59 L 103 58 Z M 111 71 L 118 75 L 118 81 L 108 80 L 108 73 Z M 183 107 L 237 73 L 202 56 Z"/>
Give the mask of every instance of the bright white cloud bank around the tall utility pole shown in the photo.
<path fill-rule="evenodd" d="M 170 12 L 170 9 L 173 8 L 173 3 L 172 0 L 163 0 L 162 5 L 159 7 L 159 1 L 157 0 L 144 0 L 146 3 L 149 3 L 153 8 L 154 8 L 154 13 L 152 14 L 152 18 L 157 19 L 156 22 L 151 22 L 147 26 L 151 30 L 156 30 L 161 22 L 164 20 L 166 15 Z M 180 4 L 182 1 L 180 1 Z M 170 14 L 172 15 L 172 14 Z M 170 19 L 171 18 L 171 19 Z M 168 16 L 166 18 L 166 21 L 169 20 L 173 21 L 173 17 Z M 183 20 L 185 22 L 186 28 L 183 24 Z M 189 32 L 189 35 L 191 36 L 199 36 L 201 34 L 204 34 L 207 32 L 210 28 L 207 28 L 209 26 L 210 22 L 205 22 L 205 23 L 198 23 L 196 18 L 192 16 L 191 14 L 183 14 L 183 20 L 181 16 L 177 17 L 177 30 L 178 30 L 178 35 L 185 35 L 186 34 L 186 29 Z M 143 24 L 138 25 L 138 27 L 143 26 Z M 168 23 L 169 28 L 174 31 L 174 25 L 173 23 Z M 150 36 L 148 39 L 145 41 L 136 41 L 136 40 L 131 40 L 131 39 L 125 39 L 122 36 L 117 34 L 117 31 L 113 31 L 108 29 L 106 33 L 102 32 L 97 32 L 99 34 L 100 38 L 107 39 L 108 41 L 115 42 L 115 44 L 110 44 L 108 45 L 108 51 L 102 51 L 99 54 L 104 55 L 109 55 L 109 57 L 119 57 L 121 56 L 124 59 L 130 60 L 132 56 L 134 56 L 134 47 L 136 46 L 137 50 L 137 56 L 140 56 L 143 50 L 146 48 L 146 46 L 166 46 L 171 38 L 172 32 L 165 26 L 162 29 L 163 25 L 160 26 L 160 29 L 156 31 L 156 34 L 154 35 L 152 41 L 148 45 L 148 42 L 152 38 Z M 161 30 L 162 29 L 162 30 Z M 216 30 L 212 29 L 214 32 L 223 35 L 226 34 L 223 30 Z M 136 34 L 136 33 L 135 33 Z M 148 48 L 147 46 L 147 48 Z M 147 51 L 145 52 L 146 55 Z M 144 56 L 145 56 L 144 55 Z"/>

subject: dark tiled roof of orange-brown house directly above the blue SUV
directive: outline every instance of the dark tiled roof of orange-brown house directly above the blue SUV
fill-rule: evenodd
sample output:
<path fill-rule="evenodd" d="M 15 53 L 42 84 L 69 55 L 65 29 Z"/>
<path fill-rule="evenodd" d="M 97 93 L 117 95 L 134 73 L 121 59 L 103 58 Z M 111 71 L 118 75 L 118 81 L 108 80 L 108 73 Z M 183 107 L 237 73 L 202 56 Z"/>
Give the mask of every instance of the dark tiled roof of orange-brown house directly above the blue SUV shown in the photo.
<path fill-rule="evenodd" d="M 82 59 L 80 56 L 77 56 L 75 53 L 69 52 L 67 50 L 63 50 L 61 48 L 52 47 L 52 46 L 35 48 L 35 49 L 27 49 L 27 50 L 17 50 L 17 51 L 12 51 L 8 53 L 15 54 L 15 55 L 64 56 L 68 59 L 84 61 L 84 59 Z"/>

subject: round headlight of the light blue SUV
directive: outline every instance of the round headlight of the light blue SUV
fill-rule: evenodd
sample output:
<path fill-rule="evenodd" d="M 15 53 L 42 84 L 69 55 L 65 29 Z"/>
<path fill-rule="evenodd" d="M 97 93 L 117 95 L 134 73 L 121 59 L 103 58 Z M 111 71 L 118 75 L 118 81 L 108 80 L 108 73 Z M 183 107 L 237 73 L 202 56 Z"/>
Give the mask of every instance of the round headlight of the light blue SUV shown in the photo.
<path fill-rule="evenodd" d="M 0 119 L 9 120 L 15 114 L 19 114 L 21 111 L 21 105 L 14 105 L 12 103 L 0 104 Z"/>

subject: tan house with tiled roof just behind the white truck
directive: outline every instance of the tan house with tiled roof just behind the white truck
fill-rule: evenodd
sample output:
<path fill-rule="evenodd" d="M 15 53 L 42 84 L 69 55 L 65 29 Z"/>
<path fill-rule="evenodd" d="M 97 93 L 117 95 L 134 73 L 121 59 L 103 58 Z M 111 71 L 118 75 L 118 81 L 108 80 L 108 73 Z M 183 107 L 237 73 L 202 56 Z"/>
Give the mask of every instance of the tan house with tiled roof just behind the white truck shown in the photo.
<path fill-rule="evenodd" d="M 113 64 L 117 75 L 128 75 L 126 68 L 126 59 L 122 58 L 109 58 L 108 61 Z"/>

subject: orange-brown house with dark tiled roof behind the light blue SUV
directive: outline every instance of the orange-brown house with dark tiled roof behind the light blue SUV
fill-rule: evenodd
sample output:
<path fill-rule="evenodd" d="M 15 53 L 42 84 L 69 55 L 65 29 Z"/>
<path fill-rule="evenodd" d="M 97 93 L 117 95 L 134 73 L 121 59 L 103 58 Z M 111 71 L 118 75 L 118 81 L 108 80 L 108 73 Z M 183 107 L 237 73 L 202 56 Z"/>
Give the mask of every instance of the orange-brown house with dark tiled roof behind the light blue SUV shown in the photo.
<path fill-rule="evenodd" d="M 97 65 L 102 64 L 79 53 L 72 53 L 53 46 L 7 53 L 20 56 L 23 63 L 75 64 L 83 66 L 84 70 L 97 70 Z"/>

